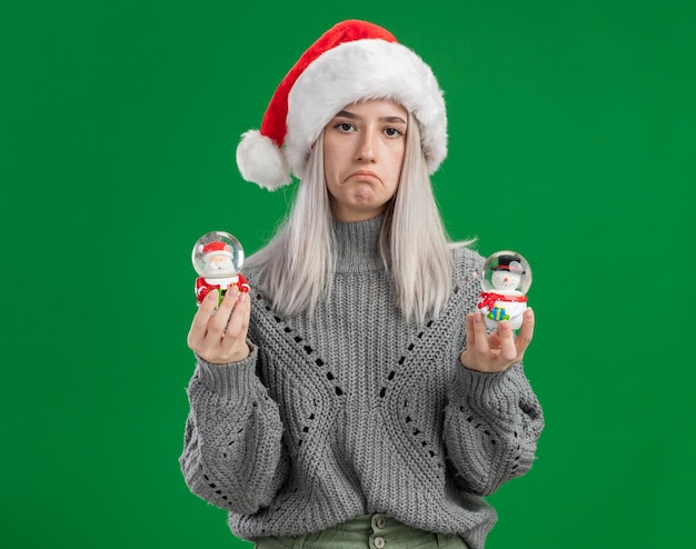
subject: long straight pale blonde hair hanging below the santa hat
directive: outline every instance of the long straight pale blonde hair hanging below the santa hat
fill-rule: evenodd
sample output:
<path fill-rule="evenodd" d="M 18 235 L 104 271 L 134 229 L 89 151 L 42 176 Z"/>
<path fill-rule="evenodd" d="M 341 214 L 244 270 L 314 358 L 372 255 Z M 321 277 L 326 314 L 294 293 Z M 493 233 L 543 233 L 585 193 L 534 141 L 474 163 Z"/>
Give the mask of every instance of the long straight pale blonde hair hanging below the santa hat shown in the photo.
<path fill-rule="evenodd" d="M 311 311 L 330 291 L 336 261 L 332 223 L 322 132 L 284 226 L 247 263 L 260 268 L 260 289 L 281 315 Z M 451 290 L 450 247 L 427 173 L 418 121 L 409 113 L 401 177 L 380 236 L 381 258 L 407 320 L 424 322 L 445 308 Z"/>

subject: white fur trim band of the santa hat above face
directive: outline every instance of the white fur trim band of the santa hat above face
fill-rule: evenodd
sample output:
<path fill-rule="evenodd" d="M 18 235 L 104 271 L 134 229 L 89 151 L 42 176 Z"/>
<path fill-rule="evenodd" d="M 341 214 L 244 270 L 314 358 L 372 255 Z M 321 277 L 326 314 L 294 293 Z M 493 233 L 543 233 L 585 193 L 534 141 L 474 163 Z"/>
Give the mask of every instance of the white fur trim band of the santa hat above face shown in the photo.
<path fill-rule="evenodd" d="M 331 118 L 347 104 L 367 99 L 391 99 L 416 117 L 428 173 L 437 170 L 447 156 L 447 114 L 430 67 L 400 43 L 366 39 L 322 53 L 290 90 L 285 152 L 298 178 Z"/>

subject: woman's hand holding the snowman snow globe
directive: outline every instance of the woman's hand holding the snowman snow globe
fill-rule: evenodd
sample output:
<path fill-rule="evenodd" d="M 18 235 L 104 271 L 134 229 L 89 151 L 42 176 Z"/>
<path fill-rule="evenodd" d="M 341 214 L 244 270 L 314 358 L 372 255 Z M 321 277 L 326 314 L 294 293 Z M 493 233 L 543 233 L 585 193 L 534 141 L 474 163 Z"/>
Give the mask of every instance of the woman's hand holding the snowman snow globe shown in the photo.
<path fill-rule="evenodd" d="M 523 325 L 517 338 L 507 320 L 498 325 L 498 330 L 486 335 L 486 322 L 480 312 L 467 315 L 467 348 L 459 355 L 465 368 L 481 372 L 499 372 L 519 362 L 534 335 L 534 311 L 524 312 Z"/>

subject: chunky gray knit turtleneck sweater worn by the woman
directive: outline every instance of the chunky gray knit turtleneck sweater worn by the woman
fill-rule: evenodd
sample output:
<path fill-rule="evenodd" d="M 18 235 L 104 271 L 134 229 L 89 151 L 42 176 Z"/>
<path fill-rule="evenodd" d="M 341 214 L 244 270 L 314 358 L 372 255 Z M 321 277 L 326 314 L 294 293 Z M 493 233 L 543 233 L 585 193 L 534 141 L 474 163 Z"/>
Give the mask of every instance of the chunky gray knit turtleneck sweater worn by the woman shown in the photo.
<path fill-rule="evenodd" d="M 332 291 L 312 316 L 277 315 L 247 272 L 251 355 L 198 359 L 181 468 L 241 538 L 382 512 L 479 549 L 496 521 L 483 496 L 531 467 L 544 419 L 521 365 L 479 373 L 458 360 L 481 258 L 454 250 L 446 310 L 409 325 L 379 257 L 380 224 L 336 224 Z"/>

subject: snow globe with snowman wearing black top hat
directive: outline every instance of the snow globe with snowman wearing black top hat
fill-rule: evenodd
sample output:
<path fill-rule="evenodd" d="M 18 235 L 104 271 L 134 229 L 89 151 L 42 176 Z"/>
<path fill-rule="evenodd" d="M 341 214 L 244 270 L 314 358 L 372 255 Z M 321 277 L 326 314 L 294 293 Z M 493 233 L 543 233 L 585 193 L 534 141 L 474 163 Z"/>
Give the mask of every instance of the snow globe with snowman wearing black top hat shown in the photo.
<path fill-rule="evenodd" d="M 527 309 L 527 290 L 531 285 L 531 269 L 519 253 L 498 251 L 490 256 L 481 272 L 478 309 L 488 328 L 497 328 L 507 320 L 513 330 L 519 330 Z"/>

